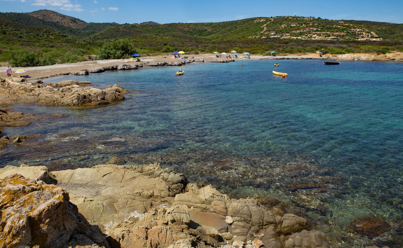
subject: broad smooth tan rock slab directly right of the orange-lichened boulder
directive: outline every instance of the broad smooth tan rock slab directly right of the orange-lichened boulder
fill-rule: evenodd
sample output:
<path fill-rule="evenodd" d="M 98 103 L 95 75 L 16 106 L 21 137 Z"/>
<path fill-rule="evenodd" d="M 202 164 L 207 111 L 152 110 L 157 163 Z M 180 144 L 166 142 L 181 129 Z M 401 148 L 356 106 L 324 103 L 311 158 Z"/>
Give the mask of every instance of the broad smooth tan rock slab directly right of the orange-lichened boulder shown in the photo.
<path fill-rule="evenodd" d="M 141 216 L 152 207 L 172 202 L 185 189 L 186 178 L 160 165 L 100 165 L 54 171 L 58 185 L 90 223 L 108 223 Z"/>

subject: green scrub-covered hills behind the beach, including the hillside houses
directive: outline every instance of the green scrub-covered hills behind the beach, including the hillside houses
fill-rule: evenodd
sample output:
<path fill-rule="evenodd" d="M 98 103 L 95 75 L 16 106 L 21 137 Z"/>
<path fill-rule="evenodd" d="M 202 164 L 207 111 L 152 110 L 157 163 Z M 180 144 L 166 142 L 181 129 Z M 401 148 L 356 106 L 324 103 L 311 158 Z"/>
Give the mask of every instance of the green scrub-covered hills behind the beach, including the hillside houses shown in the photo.
<path fill-rule="evenodd" d="M 0 62 L 16 61 L 26 49 L 36 65 L 100 57 L 127 56 L 126 48 L 106 51 L 115 39 L 140 54 L 214 51 L 277 54 L 305 52 L 343 54 L 386 53 L 403 50 L 403 24 L 371 21 L 334 21 L 313 17 L 256 17 L 219 23 L 144 22 L 134 24 L 86 23 L 51 10 L 0 13 Z M 103 47 L 103 48 L 102 48 Z M 102 50 L 102 49 L 103 50 Z M 112 52 L 112 53 L 111 53 Z M 108 55 L 105 54 L 115 54 Z M 17 56 L 18 55 L 18 56 Z"/>

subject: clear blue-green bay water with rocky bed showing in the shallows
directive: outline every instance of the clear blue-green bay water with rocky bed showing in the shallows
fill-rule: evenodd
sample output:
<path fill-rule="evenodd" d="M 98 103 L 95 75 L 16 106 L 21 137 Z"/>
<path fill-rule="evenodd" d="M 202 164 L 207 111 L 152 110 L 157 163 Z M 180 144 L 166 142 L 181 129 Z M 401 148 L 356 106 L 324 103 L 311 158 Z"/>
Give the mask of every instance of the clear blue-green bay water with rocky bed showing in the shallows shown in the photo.
<path fill-rule="evenodd" d="M 283 79 L 272 75 L 289 73 Z M 240 64 L 243 63 L 242 67 Z M 6 134 L 42 134 L 0 150 L 1 164 L 89 167 L 119 156 L 160 162 L 191 181 L 237 196 L 276 196 L 297 206 L 333 247 L 400 247 L 403 206 L 403 64 L 318 60 L 243 61 L 73 76 L 118 83 L 124 102 L 95 108 L 14 105 L 35 113 Z M 67 117 L 52 117 L 50 113 Z M 347 232 L 376 215 L 379 238 Z"/>

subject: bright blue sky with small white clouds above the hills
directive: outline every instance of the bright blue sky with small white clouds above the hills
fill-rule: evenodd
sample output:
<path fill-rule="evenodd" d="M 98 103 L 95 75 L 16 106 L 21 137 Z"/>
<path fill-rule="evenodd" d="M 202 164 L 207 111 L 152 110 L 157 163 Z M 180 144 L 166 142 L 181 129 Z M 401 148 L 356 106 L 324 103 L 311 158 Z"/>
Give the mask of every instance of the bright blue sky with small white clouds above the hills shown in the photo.
<path fill-rule="evenodd" d="M 218 22 L 279 15 L 403 23 L 403 0 L 0 0 L 0 12 L 54 10 L 87 22 Z"/>

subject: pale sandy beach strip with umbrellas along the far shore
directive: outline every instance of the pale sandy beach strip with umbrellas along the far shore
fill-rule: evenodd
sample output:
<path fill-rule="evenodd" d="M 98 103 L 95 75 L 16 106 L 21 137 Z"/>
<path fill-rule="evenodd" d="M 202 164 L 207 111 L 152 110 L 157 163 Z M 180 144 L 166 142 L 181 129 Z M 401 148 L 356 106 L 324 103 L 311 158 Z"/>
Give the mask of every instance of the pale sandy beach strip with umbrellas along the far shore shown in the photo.
<path fill-rule="evenodd" d="M 193 58 L 194 57 L 194 58 Z M 182 66 L 189 63 L 226 63 L 233 61 L 243 60 L 283 60 L 283 59 L 319 59 L 319 60 L 354 60 L 354 61 L 393 61 L 403 62 L 403 52 L 393 52 L 387 54 L 374 54 L 374 53 L 362 53 L 362 54 L 339 54 L 320 57 L 319 54 L 297 54 L 297 55 L 285 55 L 285 56 L 261 56 L 251 55 L 250 59 L 247 58 L 217 58 L 212 54 L 197 54 L 189 55 L 187 59 L 173 58 L 172 55 L 166 56 L 147 56 L 141 57 L 141 62 L 129 62 L 129 59 L 113 59 L 113 60 L 91 60 L 70 64 L 56 64 L 37 67 L 12 67 L 13 75 L 18 69 L 27 69 L 25 75 L 32 76 L 28 78 L 28 81 L 35 81 L 39 79 L 46 79 L 50 77 L 60 77 L 66 75 L 88 75 L 88 73 L 100 73 L 104 71 L 113 71 L 119 68 L 121 70 L 138 69 L 140 67 L 148 66 Z M 0 67 L 0 77 L 6 77 L 6 67 Z M 101 69 L 96 71 L 97 69 Z M 22 74 L 21 74 L 22 75 Z M 2 104 L 0 102 L 0 104 Z"/>

